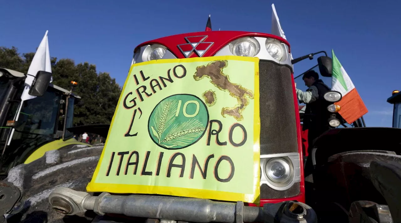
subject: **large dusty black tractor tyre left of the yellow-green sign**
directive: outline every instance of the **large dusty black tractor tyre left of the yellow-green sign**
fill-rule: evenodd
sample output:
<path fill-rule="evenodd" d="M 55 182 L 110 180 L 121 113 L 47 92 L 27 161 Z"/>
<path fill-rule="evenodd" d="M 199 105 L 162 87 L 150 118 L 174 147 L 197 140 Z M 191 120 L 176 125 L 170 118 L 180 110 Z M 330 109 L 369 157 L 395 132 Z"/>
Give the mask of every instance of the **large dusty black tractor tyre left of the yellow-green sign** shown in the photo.
<path fill-rule="evenodd" d="M 71 145 L 48 151 L 38 160 L 12 168 L 5 180 L 21 190 L 24 207 L 18 213 L 7 215 L 7 223 L 91 222 L 97 216 L 93 211 L 64 215 L 52 209 L 48 197 L 57 187 L 86 191 L 103 146 Z"/>

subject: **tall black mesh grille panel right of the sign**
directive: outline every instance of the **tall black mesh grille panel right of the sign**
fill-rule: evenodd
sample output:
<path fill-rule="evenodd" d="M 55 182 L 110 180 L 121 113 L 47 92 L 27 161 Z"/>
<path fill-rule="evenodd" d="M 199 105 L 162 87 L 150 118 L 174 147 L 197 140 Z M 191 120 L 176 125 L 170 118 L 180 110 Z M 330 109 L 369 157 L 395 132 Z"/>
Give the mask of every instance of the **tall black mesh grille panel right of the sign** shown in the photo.
<path fill-rule="evenodd" d="M 291 70 L 259 62 L 260 154 L 298 152 Z"/>

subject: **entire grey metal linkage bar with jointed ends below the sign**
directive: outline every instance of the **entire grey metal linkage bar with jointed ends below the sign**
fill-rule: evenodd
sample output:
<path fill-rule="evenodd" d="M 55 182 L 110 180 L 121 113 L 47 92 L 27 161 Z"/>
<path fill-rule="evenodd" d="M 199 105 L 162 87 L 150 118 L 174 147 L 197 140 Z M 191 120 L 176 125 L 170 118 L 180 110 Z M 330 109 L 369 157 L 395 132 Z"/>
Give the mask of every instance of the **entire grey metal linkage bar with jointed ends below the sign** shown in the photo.
<path fill-rule="evenodd" d="M 58 187 L 49 195 L 55 211 L 76 215 L 93 210 L 97 215 L 120 214 L 130 217 L 184 222 L 305 222 L 315 223 L 316 213 L 299 202 L 267 203 L 261 207 L 244 206 L 242 201 L 219 202 L 209 199 L 163 195 L 111 195 L 102 192 L 91 196 L 87 192 Z M 150 221 L 152 222 L 152 221 Z M 162 223 L 162 221 L 160 221 Z"/>

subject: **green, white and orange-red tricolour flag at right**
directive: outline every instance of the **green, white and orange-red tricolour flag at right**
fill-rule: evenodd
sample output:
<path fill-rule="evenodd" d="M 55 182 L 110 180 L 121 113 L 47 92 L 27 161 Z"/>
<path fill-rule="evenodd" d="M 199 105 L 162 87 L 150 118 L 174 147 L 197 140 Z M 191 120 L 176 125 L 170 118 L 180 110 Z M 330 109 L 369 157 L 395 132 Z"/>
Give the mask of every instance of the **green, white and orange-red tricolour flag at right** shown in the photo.
<path fill-rule="evenodd" d="M 331 53 L 333 61 L 331 90 L 338 91 L 342 95 L 342 99 L 334 104 L 338 104 L 341 107 L 338 113 L 347 123 L 351 124 L 368 113 L 368 109 L 356 91 L 351 78 L 342 67 L 340 61 L 338 61 L 336 55 L 334 55 L 334 50 Z"/>

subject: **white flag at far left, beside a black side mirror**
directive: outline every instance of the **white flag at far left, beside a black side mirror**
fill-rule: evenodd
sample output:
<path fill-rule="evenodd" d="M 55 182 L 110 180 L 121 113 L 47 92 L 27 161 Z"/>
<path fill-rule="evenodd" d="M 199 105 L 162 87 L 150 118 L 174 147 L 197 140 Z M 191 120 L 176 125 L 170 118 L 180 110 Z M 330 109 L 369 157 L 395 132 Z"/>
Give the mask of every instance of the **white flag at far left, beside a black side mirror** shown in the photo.
<path fill-rule="evenodd" d="M 49 53 L 49 40 L 47 38 L 47 32 L 45 33 L 45 36 L 43 37 L 41 44 L 39 44 L 38 49 L 36 50 L 36 53 L 32 59 L 32 62 L 30 63 L 29 69 L 28 69 L 28 76 L 25 78 L 25 88 L 24 91 L 22 92 L 21 95 L 21 100 L 29 100 L 32 98 L 36 98 L 36 96 L 32 96 L 28 94 L 30 86 L 32 86 L 34 77 L 36 76 L 36 73 L 38 71 L 46 71 L 51 73 L 51 63 L 50 63 L 50 53 Z M 53 81 L 53 78 L 51 78 L 50 82 Z"/>

